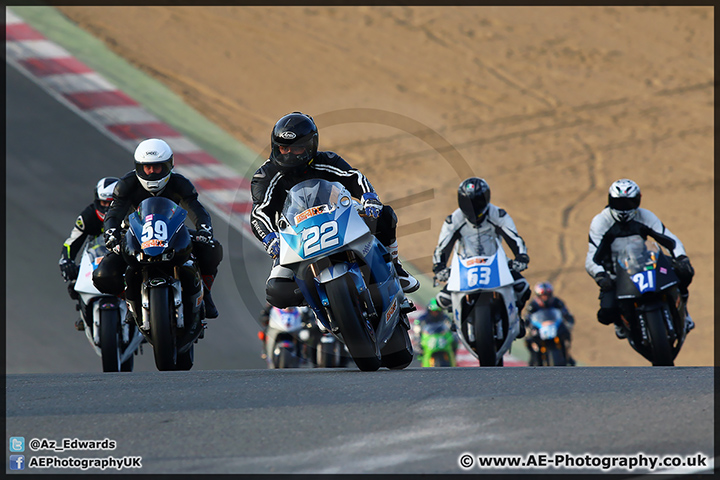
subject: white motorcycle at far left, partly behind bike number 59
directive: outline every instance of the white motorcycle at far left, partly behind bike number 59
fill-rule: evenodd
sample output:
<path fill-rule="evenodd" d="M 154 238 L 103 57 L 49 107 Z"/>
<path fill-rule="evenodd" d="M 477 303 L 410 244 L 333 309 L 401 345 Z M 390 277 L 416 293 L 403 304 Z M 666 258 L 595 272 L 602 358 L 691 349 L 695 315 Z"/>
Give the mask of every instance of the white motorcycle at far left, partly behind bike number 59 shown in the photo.
<path fill-rule="evenodd" d="M 135 323 L 127 321 L 125 301 L 100 293 L 92 282 L 93 271 L 107 253 L 100 235 L 85 243 L 75 282 L 79 297 L 76 308 L 84 324 L 85 336 L 102 358 L 103 372 L 132 372 L 134 354 L 143 337 Z"/>

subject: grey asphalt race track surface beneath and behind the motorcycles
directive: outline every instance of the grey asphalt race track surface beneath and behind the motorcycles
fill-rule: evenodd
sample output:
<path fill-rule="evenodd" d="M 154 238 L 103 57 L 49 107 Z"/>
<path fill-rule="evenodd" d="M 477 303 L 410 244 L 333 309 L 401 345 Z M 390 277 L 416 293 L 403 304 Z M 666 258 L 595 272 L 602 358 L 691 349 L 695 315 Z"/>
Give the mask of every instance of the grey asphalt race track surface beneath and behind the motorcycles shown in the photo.
<path fill-rule="evenodd" d="M 713 465 L 710 367 L 265 370 L 255 316 L 269 261 L 219 218 L 220 317 L 193 370 L 157 372 L 145 345 L 135 372 L 99 373 L 57 261 L 95 182 L 132 157 L 9 65 L 6 83 L 6 438 L 117 443 L 27 448 L 26 461 L 140 456 L 129 472 L 196 474 L 451 474 L 465 453 L 699 453 Z"/>

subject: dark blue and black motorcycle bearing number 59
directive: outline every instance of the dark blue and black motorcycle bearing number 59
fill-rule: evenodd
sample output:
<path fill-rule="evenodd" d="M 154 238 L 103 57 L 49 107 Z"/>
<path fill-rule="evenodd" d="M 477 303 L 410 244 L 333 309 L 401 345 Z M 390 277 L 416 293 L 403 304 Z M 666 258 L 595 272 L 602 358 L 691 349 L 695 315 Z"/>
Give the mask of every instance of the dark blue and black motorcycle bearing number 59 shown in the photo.
<path fill-rule="evenodd" d="M 202 280 L 186 217 L 173 201 L 150 197 L 130 214 L 125 234 L 126 259 L 142 277 L 141 304 L 128 303 L 161 371 L 190 370 L 204 329 Z"/>

